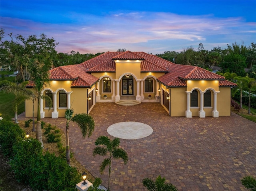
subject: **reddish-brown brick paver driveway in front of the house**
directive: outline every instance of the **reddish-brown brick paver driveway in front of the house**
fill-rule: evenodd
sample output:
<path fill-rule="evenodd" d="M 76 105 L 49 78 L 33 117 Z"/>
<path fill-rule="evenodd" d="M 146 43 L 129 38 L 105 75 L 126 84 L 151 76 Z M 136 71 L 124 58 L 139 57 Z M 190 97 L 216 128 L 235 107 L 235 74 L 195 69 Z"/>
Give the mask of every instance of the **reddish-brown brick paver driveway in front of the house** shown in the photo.
<path fill-rule="evenodd" d="M 245 191 L 240 179 L 256 177 L 256 123 L 237 114 L 170 117 L 158 103 L 96 103 L 90 115 L 96 125 L 93 135 L 82 139 L 80 129 L 71 124 L 70 146 L 78 161 L 106 187 L 108 170 L 99 173 L 103 157 L 92 156 L 96 138 L 110 136 L 107 128 L 116 122 L 142 122 L 154 130 L 146 138 L 121 139 L 120 146 L 127 151 L 129 161 L 127 165 L 113 162 L 112 191 L 146 191 L 142 179 L 155 180 L 158 175 L 166 177 L 179 191 Z M 65 128 L 64 118 L 43 120 Z"/>

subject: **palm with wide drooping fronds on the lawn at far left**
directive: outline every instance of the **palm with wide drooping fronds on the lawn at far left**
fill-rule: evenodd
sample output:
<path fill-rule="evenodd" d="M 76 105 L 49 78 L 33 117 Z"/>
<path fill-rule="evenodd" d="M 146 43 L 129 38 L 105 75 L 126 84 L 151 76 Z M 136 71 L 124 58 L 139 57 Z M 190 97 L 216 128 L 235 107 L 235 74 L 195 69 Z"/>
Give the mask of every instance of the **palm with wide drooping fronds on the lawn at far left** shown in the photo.
<path fill-rule="evenodd" d="M 27 82 L 24 83 L 13 83 L 7 80 L 1 81 L 1 90 L 7 93 L 13 93 L 15 98 L 13 102 L 14 110 L 14 122 L 18 123 L 18 106 L 26 99 L 30 99 L 33 95 L 32 91 L 26 89 Z"/>

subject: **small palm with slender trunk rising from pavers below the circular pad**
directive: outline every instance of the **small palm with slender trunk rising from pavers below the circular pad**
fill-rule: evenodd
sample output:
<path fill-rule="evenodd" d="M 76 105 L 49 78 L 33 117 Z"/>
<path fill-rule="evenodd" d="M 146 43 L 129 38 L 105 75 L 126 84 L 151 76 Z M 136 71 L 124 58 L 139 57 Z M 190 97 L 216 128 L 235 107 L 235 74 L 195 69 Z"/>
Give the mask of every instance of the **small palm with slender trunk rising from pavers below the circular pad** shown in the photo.
<path fill-rule="evenodd" d="M 128 154 L 127 152 L 119 148 L 120 139 L 114 138 L 110 140 L 107 136 L 100 136 L 96 139 L 95 145 L 102 145 L 94 148 L 93 156 L 108 156 L 105 158 L 100 165 L 100 173 L 102 174 L 105 168 L 109 165 L 108 169 L 108 191 L 110 191 L 110 176 L 111 176 L 111 163 L 113 159 L 122 159 L 124 161 L 124 165 L 128 162 Z"/>

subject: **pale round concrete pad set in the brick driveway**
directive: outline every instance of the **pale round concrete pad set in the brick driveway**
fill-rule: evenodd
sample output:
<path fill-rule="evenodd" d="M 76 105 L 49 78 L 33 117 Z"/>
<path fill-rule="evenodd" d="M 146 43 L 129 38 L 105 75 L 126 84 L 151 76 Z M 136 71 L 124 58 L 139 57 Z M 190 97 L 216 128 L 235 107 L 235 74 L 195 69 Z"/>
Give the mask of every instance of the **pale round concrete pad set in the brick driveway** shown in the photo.
<path fill-rule="evenodd" d="M 107 132 L 120 139 L 140 139 L 152 134 L 153 129 L 144 123 L 120 122 L 110 125 Z"/>

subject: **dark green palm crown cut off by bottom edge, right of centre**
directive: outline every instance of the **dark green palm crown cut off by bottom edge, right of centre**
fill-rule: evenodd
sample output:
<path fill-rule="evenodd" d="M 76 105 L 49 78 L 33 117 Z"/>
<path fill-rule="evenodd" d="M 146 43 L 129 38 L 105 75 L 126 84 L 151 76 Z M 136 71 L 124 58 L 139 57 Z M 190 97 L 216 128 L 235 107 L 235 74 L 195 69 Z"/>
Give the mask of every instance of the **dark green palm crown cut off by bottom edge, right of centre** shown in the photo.
<path fill-rule="evenodd" d="M 143 186 L 148 189 L 148 191 L 178 191 L 176 186 L 171 183 L 164 183 L 165 177 L 161 178 L 159 175 L 156 177 L 156 181 L 152 181 L 150 178 L 144 178 L 142 180 Z"/>

